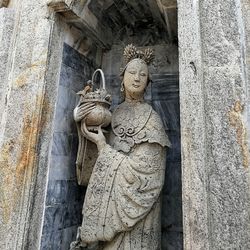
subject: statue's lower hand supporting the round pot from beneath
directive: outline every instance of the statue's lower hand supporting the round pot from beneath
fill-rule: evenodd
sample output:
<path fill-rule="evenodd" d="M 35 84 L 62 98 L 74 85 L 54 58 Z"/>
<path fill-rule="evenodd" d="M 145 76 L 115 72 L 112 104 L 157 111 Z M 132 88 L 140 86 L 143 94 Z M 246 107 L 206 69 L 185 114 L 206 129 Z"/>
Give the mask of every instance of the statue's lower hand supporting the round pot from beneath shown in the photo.
<path fill-rule="evenodd" d="M 98 126 L 97 133 L 90 132 L 87 129 L 85 121 L 82 124 L 82 132 L 84 137 L 86 137 L 88 140 L 94 142 L 97 145 L 98 152 L 101 152 L 101 150 L 106 146 L 106 138 L 102 132 L 101 126 Z"/>

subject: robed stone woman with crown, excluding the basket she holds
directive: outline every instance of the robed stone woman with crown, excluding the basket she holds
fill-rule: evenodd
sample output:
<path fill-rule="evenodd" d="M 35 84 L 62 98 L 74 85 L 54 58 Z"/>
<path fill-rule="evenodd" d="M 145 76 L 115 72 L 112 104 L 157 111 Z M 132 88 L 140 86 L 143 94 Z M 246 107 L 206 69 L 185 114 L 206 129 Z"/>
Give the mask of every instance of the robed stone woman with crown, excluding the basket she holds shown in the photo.
<path fill-rule="evenodd" d="M 83 204 L 83 221 L 71 249 L 140 250 L 161 248 L 160 193 L 164 182 L 165 147 L 170 146 L 159 115 L 143 100 L 149 82 L 150 49 L 128 45 L 121 91 L 111 132 L 90 131 L 84 122 L 96 105 L 78 105 L 82 134 L 96 144 L 98 157 Z"/>

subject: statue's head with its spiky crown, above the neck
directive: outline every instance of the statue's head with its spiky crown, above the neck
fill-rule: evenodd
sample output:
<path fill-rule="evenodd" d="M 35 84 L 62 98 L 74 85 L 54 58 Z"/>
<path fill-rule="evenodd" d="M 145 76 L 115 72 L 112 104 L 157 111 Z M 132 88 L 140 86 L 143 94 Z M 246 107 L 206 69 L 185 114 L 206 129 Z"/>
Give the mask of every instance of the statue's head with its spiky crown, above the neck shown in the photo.
<path fill-rule="evenodd" d="M 148 65 L 154 55 L 151 49 L 144 52 L 137 50 L 133 45 L 128 45 L 124 50 L 126 66 L 122 70 L 122 90 L 126 97 L 141 98 L 149 82 Z"/>

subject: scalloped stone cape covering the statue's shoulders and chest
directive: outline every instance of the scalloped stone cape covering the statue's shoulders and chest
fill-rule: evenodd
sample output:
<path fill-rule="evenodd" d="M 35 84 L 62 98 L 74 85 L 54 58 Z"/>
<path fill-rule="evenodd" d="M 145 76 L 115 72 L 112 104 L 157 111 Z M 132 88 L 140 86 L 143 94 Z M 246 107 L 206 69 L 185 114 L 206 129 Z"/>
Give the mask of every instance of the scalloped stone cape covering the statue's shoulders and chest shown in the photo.
<path fill-rule="evenodd" d="M 115 147 L 126 144 L 126 150 L 122 150 L 124 152 L 143 142 L 158 143 L 163 147 L 171 145 L 160 116 L 144 102 L 120 104 L 113 113 L 111 126 L 116 136 Z"/>

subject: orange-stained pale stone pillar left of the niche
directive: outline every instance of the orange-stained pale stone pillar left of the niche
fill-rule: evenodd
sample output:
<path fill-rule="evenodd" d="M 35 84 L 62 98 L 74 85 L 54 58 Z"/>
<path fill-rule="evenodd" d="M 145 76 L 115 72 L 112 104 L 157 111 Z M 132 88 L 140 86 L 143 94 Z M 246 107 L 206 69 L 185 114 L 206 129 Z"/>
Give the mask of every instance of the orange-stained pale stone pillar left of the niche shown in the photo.
<path fill-rule="evenodd" d="M 55 48 L 55 30 L 46 1 L 22 1 L 18 7 L 1 119 L 0 248 L 38 249 L 59 64 L 48 50 Z M 60 51 L 58 41 L 56 46 Z"/>

